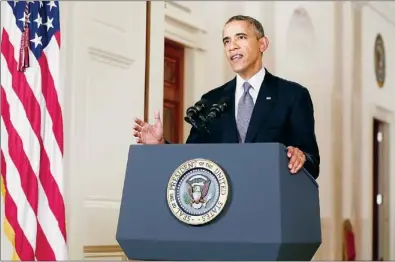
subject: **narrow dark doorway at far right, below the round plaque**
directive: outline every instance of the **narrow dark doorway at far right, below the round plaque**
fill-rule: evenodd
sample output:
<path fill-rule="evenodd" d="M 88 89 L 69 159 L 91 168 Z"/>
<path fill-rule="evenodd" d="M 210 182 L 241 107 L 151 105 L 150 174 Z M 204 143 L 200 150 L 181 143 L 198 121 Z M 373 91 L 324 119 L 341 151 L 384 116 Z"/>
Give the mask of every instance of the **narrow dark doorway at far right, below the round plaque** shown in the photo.
<path fill-rule="evenodd" d="M 372 260 L 389 260 L 389 125 L 373 119 Z"/>

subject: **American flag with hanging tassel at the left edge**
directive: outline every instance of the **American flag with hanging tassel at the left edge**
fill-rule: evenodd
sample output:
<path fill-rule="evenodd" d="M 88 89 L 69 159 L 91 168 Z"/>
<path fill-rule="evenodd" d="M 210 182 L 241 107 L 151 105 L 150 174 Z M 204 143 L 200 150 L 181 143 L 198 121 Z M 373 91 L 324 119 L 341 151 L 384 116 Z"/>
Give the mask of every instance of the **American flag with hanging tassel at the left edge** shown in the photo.
<path fill-rule="evenodd" d="M 16 260 L 67 260 L 59 3 L 1 7 L 3 230 Z"/>

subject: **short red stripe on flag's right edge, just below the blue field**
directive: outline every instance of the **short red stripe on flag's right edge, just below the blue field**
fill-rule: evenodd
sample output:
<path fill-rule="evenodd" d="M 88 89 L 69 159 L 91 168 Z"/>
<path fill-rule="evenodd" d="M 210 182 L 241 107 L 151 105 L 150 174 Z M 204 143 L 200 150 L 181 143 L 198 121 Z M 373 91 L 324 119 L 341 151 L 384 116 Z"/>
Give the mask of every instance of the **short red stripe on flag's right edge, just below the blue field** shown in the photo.
<path fill-rule="evenodd" d="M 55 89 L 54 81 L 51 72 L 48 68 L 48 61 L 45 53 L 43 52 L 38 60 L 41 67 L 41 82 L 42 93 L 47 103 L 48 113 L 52 118 L 52 128 L 58 142 L 60 152 L 63 155 L 63 118 L 62 109 L 60 108 L 58 94 Z"/>

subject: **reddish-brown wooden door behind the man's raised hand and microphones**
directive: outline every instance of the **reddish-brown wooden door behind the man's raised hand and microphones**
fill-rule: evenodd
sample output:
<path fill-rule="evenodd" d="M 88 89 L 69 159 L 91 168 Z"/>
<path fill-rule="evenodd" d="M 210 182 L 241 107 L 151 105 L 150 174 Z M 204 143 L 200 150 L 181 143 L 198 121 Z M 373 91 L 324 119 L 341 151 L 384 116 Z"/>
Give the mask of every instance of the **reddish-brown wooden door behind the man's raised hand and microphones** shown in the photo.
<path fill-rule="evenodd" d="M 183 143 L 184 46 L 165 39 L 163 135 Z"/>

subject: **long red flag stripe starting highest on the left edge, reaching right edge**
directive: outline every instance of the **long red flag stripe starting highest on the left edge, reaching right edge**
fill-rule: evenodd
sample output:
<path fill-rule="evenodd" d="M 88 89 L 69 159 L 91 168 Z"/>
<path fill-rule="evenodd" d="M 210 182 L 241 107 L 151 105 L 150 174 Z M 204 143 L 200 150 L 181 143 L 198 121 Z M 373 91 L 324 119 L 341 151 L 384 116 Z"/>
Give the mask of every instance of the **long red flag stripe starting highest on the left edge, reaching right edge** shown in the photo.
<path fill-rule="evenodd" d="M 4 58 L 7 61 L 8 68 L 10 69 L 10 72 L 12 74 L 12 85 L 14 88 L 15 93 L 21 100 L 25 111 L 27 118 L 29 122 L 32 125 L 33 131 L 36 134 L 38 141 L 40 143 L 41 147 L 41 152 L 40 152 L 40 172 L 39 172 L 39 178 L 41 185 L 44 189 L 45 194 L 47 195 L 48 198 L 48 204 L 50 206 L 50 209 L 54 213 L 60 230 L 63 234 L 64 239 L 66 240 L 66 226 L 65 226 L 65 207 L 64 207 L 64 201 L 63 197 L 60 193 L 58 184 L 54 180 L 54 177 L 51 174 L 50 171 L 50 161 L 47 155 L 47 152 L 44 149 L 43 145 L 43 140 L 41 138 L 41 112 L 40 112 L 40 105 L 38 104 L 33 91 L 31 90 L 29 84 L 27 83 L 26 77 L 24 74 L 21 74 L 16 70 L 17 68 L 17 62 L 15 61 L 14 57 L 10 54 L 14 54 L 14 47 L 9 41 L 9 36 L 6 31 L 3 33 L 3 39 L 2 39 L 2 48 L 6 48 L 3 50 L 9 50 L 8 52 L 5 52 Z M 42 79 L 42 85 L 43 89 L 46 84 L 45 78 Z M 53 81 L 52 81 L 53 82 Z M 50 88 L 47 88 L 50 89 Z M 48 107 L 48 105 L 47 105 Z M 48 110 L 49 111 L 49 110 Z M 61 112 L 60 112 L 61 113 Z M 61 118 L 61 117 L 59 117 Z M 53 117 L 52 117 L 53 119 Z M 62 133 L 62 132 L 61 132 Z M 63 133 L 62 133 L 63 136 Z M 62 141 L 63 143 L 63 141 Z M 37 209 L 35 209 L 35 212 Z"/>

